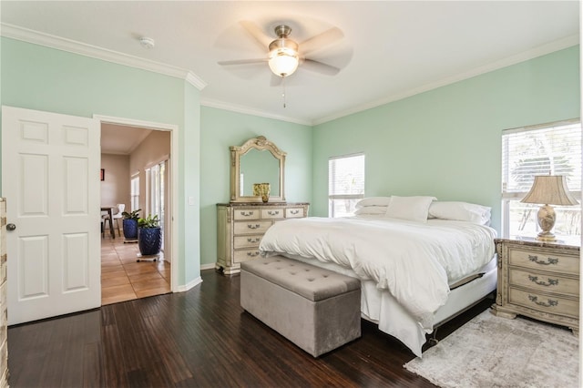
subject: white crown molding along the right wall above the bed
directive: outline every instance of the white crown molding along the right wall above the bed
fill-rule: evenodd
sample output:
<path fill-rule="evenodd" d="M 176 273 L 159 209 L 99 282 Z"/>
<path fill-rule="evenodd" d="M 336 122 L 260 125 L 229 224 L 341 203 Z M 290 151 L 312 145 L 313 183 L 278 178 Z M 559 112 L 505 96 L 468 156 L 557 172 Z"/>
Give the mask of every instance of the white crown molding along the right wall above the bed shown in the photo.
<path fill-rule="evenodd" d="M 479 75 L 482 75 L 485 73 L 489 73 L 491 71 L 495 71 L 495 70 L 498 70 L 498 69 L 506 67 L 506 66 L 516 65 L 520 62 L 525 62 L 529 59 L 536 58 L 537 56 L 545 56 L 545 55 L 553 53 L 555 51 L 559 51 L 559 50 L 562 50 L 562 49 L 565 49 L 565 48 L 568 48 L 571 46 L 577 46 L 578 44 L 579 44 L 579 36 L 578 35 L 567 36 L 563 39 L 558 39 L 556 41 L 547 43 L 547 45 L 537 46 L 531 50 L 524 51 L 524 52 L 519 53 L 517 55 L 507 56 L 506 58 L 501 59 L 499 61 L 492 62 L 492 63 L 484 65 L 484 66 L 478 66 L 478 67 L 473 68 L 465 73 L 456 74 L 453 77 L 446 77 L 446 78 L 440 79 L 438 81 L 422 85 L 420 87 L 415 87 L 413 89 L 406 90 L 403 93 L 397 93 L 397 94 L 394 94 L 392 96 L 384 97 L 384 98 L 379 99 L 379 100 L 375 100 L 375 101 L 371 101 L 371 102 L 368 102 L 368 103 L 363 104 L 363 105 L 359 105 L 358 107 L 353 107 L 351 109 L 343 109 L 342 113 L 339 112 L 339 113 L 332 114 L 332 115 L 327 116 L 327 117 L 321 117 L 321 118 L 315 119 L 313 121 L 313 125 L 316 126 L 319 124 L 326 123 L 328 121 L 335 120 L 336 118 L 350 116 L 350 115 L 353 115 L 354 113 L 362 112 L 364 110 L 371 109 L 373 107 L 380 107 L 380 106 L 383 106 L 385 104 L 388 104 L 388 103 L 391 103 L 394 101 L 398 101 L 398 100 L 406 98 L 406 97 L 412 97 L 414 95 L 424 93 L 424 92 L 427 92 L 427 91 L 432 90 L 432 89 L 436 89 L 437 87 L 445 87 L 446 85 L 455 84 L 455 82 L 463 81 L 463 80 L 468 79 L 468 78 L 472 78 L 472 77 L 476 77 L 476 76 L 479 76 Z"/>

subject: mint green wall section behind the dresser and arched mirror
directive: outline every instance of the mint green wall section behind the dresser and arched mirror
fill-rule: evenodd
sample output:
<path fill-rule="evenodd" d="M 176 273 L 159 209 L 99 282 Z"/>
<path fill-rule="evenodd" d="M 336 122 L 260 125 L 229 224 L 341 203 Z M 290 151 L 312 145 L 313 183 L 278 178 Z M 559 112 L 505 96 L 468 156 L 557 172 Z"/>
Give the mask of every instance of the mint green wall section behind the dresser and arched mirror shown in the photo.
<path fill-rule="evenodd" d="M 214 107 L 201 107 L 200 123 L 200 260 L 204 265 L 217 260 L 216 205 L 230 200 L 230 146 L 260 135 L 275 143 L 287 153 L 287 201 L 311 202 L 312 128 Z"/>

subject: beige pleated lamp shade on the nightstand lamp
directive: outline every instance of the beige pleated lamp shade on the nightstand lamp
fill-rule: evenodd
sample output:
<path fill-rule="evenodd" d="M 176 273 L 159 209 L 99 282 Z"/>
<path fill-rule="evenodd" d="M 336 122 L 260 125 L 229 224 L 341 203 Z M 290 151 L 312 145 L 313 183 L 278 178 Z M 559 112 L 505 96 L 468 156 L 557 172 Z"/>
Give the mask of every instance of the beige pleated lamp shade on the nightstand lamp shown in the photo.
<path fill-rule="evenodd" d="M 562 175 L 539 175 L 535 183 L 520 202 L 545 205 L 577 205 L 577 199 L 568 192 L 567 179 Z"/>

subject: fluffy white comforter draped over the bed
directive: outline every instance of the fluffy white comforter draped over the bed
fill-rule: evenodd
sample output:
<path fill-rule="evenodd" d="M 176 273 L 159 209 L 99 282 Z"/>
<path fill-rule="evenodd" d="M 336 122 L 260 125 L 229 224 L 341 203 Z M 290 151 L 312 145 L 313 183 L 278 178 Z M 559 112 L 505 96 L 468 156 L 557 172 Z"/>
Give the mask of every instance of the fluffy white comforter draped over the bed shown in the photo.
<path fill-rule="evenodd" d="M 464 221 L 311 217 L 276 222 L 260 250 L 264 256 L 288 253 L 350 268 L 390 291 L 431 331 L 449 284 L 491 260 L 495 238 L 496 230 Z"/>

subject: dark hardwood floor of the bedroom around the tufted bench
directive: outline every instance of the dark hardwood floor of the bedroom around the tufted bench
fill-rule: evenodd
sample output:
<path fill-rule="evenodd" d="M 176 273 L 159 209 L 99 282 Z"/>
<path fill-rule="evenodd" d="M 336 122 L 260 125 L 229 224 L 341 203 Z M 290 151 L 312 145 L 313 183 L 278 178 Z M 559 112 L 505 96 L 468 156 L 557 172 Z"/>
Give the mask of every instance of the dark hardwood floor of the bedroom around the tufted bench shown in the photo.
<path fill-rule="evenodd" d="M 239 276 L 201 273 L 202 284 L 188 292 L 10 327 L 10 386 L 435 386 L 404 370 L 414 354 L 370 322 L 359 340 L 314 359 L 240 308 Z"/>

